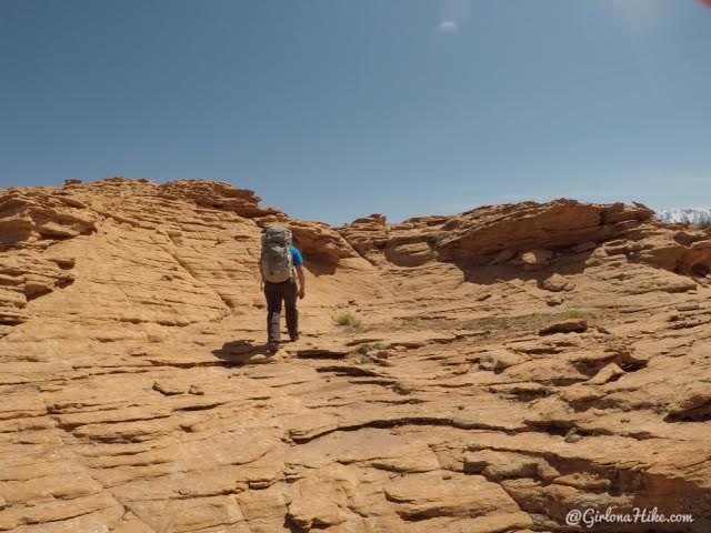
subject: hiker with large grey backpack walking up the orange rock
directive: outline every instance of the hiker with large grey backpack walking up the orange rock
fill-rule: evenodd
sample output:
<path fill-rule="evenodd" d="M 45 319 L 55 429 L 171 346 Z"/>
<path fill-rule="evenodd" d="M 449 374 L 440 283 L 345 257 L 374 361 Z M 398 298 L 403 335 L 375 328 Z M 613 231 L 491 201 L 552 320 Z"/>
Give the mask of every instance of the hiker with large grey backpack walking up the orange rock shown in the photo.
<path fill-rule="evenodd" d="M 299 340 L 299 311 L 297 296 L 306 295 L 303 258 L 293 245 L 291 230 L 268 228 L 262 233 L 262 253 L 259 260 L 267 298 L 267 336 L 269 351 L 279 349 L 281 302 L 287 308 L 287 329 L 292 341 Z M 296 271 L 296 275 L 294 275 Z M 297 280 L 299 284 L 297 285 Z"/>

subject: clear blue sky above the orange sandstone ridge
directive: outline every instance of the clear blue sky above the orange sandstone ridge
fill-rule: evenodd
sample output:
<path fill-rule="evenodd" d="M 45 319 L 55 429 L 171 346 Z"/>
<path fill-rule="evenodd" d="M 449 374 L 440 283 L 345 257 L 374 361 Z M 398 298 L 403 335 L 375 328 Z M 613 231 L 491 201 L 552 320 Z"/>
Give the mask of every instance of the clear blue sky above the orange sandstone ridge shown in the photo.
<path fill-rule="evenodd" d="M 204 178 L 343 223 L 711 204 L 697 0 L 0 0 L 0 187 Z"/>

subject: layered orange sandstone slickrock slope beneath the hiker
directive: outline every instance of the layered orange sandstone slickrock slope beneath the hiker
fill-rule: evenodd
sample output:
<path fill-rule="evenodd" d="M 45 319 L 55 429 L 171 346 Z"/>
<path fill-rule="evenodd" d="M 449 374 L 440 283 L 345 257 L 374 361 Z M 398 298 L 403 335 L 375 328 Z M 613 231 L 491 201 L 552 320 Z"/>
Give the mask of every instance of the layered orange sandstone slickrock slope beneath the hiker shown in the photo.
<path fill-rule="evenodd" d="M 269 356 L 274 222 L 309 274 Z M 0 531 L 711 531 L 711 235 L 642 205 L 333 229 L 110 179 L 0 192 Z"/>

